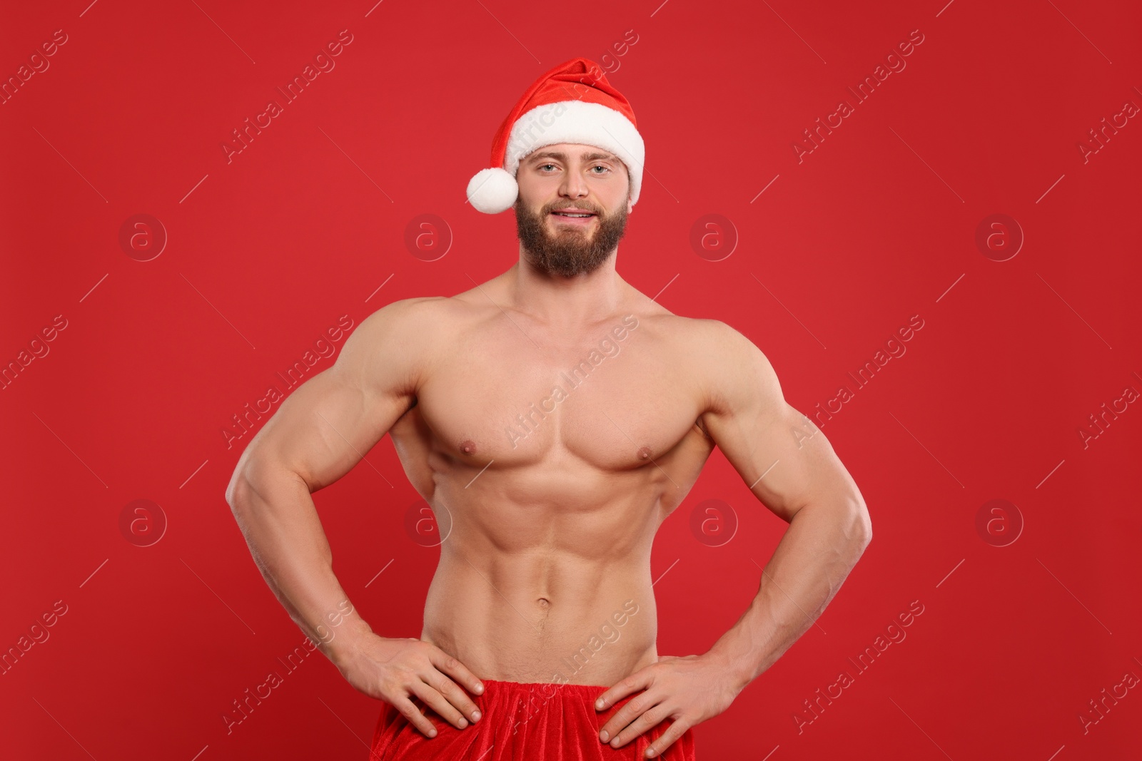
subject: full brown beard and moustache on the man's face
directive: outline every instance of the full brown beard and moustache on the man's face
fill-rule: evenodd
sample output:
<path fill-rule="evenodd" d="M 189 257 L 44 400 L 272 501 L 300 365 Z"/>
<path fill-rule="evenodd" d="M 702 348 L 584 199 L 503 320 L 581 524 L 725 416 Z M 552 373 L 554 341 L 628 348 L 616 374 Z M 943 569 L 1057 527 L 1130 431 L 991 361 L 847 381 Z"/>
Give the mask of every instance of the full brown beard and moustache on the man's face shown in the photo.
<path fill-rule="evenodd" d="M 604 214 L 594 205 L 580 207 L 595 213 L 594 221 L 584 227 L 557 225 L 548 232 L 547 220 L 555 209 L 576 204 L 555 201 L 533 213 L 520 199 L 515 202 L 515 226 L 528 261 L 541 273 L 573 277 L 588 275 L 614 252 L 627 227 L 626 200 L 614 213 Z M 594 229 L 592 229 L 594 228 Z"/>

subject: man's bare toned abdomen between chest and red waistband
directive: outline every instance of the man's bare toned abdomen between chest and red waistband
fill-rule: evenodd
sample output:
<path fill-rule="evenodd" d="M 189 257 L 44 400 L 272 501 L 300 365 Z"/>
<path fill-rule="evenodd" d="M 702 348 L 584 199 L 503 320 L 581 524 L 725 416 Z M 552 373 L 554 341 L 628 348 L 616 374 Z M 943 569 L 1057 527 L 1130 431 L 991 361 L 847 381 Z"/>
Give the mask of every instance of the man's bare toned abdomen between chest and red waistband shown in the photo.
<path fill-rule="evenodd" d="M 481 679 L 610 686 L 658 658 L 654 486 L 641 469 L 609 483 L 573 470 L 496 472 L 475 493 L 489 472 L 437 483 L 447 539 L 421 639 Z"/>

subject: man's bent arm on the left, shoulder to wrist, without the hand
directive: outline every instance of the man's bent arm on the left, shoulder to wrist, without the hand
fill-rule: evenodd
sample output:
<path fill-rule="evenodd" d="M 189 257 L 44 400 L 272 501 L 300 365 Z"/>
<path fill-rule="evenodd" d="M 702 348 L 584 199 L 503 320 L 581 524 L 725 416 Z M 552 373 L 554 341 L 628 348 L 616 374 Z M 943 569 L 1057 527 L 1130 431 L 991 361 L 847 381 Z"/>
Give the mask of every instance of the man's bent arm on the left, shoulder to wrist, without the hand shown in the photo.
<path fill-rule="evenodd" d="M 305 634 L 343 661 L 371 632 L 332 570 L 332 553 L 311 493 L 348 472 L 408 410 L 418 373 L 409 335 L 417 300 L 365 318 L 332 367 L 297 388 L 242 453 L 231 505 L 266 583 Z"/>

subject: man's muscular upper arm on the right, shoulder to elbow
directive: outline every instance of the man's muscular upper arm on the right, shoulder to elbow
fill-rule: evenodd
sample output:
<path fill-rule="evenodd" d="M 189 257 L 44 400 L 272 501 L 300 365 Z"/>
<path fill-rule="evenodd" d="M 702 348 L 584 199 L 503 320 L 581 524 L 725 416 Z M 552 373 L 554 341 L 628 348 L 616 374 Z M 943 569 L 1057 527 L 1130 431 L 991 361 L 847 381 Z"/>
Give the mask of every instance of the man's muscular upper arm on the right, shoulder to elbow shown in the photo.
<path fill-rule="evenodd" d="M 765 355 L 727 325 L 717 332 L 703 420 L 754 495 L 789 521 L 811 502 L 855 493 L 825 435 L 785 400 Z"/>

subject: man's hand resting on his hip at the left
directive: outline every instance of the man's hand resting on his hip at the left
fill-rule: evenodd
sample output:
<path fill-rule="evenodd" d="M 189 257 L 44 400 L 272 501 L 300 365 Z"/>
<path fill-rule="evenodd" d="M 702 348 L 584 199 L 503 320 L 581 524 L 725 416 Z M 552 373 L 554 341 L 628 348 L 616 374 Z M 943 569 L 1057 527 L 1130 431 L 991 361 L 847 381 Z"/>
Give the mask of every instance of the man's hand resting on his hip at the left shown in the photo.
<path fill-rule="evenodd" d="M 415 703 L 419 698 L 457 729 L 480 720 L 480 711 L 457 682 L 476 695 L 484 691 L 468 669 L 432 642 L 365 634 L 352 655 L 337 663 L 341 675 L 357 690 L 389 703 L 409 723 L 428 737 L 436 736 L 432 721 Z M 457 681 L 452 681 L 452 679 Z"/>

